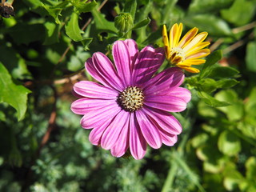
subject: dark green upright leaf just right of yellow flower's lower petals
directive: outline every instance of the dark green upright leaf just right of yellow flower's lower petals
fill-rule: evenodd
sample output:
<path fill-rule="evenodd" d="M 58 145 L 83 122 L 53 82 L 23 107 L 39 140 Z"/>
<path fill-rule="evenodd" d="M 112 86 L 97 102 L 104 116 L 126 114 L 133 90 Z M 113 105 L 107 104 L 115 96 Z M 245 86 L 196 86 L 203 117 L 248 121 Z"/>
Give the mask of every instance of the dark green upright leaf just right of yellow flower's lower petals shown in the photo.
<path fill-rule="evenodd" d="M 206 63 L 202 66 L 202 70 L 200 72 L 199 78 L 205 78 L 208 74 L 210 74 L 210 68 L 216 62 L 218 62 L 222 58 L 222 51 L 217 50 L 211 53 L 207 59 Z"/>

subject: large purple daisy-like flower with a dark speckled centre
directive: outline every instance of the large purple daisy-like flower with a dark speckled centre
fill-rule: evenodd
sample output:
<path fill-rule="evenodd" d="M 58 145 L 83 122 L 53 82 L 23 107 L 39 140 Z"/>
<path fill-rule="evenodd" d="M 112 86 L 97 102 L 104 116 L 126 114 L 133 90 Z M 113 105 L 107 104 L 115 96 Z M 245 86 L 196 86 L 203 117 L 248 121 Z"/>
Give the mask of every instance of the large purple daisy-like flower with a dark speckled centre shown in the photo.
<path fill-rule="evenodd" d="M 179 87 L 184 74 L 170 68 L 153 75 L 165 58 L 162 48 L 146 46 L 138 51 L 131 39 L 114 42 L 114 65 L 102 53 L 86 61 L 86 70 L 97 82 L 74 85 L 78 100 L 71 110 L 82 114 L 81 125 L 93 129 L 89 140 L 121 157 L 130 150 L 135 159 L 143 158 L 147 144 L 154 149 L 173 146 L 182 126 L 170 112 L 186 109 L 190 91 Z M 129 152 L 129 151 L 127 151 Z"/>

